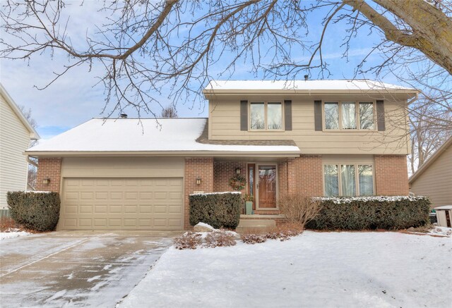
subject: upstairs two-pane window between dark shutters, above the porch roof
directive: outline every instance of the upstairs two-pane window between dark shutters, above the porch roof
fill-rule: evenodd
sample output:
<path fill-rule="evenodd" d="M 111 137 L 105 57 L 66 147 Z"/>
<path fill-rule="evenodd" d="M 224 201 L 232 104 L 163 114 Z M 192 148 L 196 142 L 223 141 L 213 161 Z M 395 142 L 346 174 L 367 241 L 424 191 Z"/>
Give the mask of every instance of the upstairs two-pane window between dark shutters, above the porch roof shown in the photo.
<path fill-rule="evenodd" d="M 283 129 L 283 104 L 280 102 L 252 102 L 249 109 L 251 130 Z"/>

